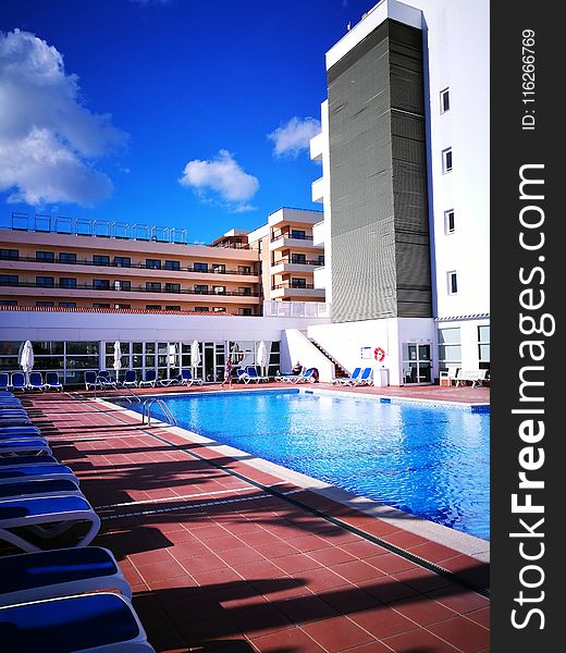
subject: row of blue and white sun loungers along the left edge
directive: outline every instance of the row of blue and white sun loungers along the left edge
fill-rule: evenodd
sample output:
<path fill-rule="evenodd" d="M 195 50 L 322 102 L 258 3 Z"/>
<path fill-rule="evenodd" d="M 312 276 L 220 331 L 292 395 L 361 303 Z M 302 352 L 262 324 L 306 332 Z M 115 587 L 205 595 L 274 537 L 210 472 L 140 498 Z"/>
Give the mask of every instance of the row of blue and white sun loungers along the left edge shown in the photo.
<path fill-rule="evenodd" d="M 89 546 L 99 527 L 76 476 L 21 401 L 0 392 L 2 650 L 155 653 L 114 556 Z"/>

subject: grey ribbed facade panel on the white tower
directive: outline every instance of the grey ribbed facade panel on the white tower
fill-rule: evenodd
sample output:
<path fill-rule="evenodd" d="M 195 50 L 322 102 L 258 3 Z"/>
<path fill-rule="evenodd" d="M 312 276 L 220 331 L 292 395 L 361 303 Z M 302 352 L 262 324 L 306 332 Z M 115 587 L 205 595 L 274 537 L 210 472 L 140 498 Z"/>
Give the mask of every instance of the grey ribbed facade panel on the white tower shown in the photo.
<path fill-rule="evenodd" d="M 386 20 L 328 91 L 332 321 L 431 317 L 421 30 Z"/>

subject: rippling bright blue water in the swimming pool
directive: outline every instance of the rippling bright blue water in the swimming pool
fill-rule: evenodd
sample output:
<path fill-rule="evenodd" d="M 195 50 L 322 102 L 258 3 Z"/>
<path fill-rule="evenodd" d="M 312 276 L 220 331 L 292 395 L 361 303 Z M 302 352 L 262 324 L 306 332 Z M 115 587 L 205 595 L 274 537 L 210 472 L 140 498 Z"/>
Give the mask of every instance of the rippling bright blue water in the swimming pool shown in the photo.
<path fill-rule="evenodd" d="M 489 540 L 489 412 L 296 390 L 160 398 L 180 427 Z"/>

